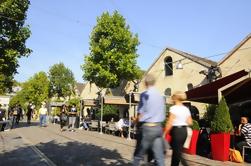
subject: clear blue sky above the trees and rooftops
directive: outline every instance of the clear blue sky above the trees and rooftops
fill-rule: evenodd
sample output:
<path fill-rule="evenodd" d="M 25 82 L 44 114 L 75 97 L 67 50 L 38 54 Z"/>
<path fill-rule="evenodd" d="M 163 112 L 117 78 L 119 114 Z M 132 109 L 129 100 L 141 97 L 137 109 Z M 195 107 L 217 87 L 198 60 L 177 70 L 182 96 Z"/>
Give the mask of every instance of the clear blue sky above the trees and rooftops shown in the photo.
<path fill-rule="evenodd" d="M 138 65 L 147 70 L 166 47 L 219 61 L 251 33 L 250 0 L 30 0 L 26 24 L 33 50 L 15 79 L 64 63 L 78 82 L 97 17 L 117 10 L 138 35 Z M 220 55 L 219 55 L 220 54 Z"/>

